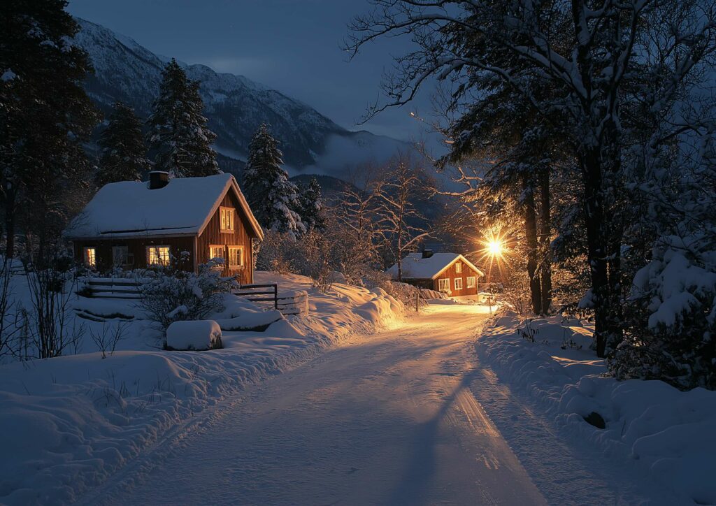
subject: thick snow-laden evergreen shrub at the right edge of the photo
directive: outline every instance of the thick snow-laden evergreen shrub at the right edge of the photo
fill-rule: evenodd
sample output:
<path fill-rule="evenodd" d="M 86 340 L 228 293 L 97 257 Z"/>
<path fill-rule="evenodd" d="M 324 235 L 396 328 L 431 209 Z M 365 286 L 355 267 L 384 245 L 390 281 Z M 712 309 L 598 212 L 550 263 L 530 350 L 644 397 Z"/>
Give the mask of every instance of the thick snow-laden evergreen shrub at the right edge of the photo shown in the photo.
<path fill-rule="evenodd" d="M 716 234 L 659 241 L 629 308 L 627 338 L 609 361 L 617 377 L 716 389 Z"/>

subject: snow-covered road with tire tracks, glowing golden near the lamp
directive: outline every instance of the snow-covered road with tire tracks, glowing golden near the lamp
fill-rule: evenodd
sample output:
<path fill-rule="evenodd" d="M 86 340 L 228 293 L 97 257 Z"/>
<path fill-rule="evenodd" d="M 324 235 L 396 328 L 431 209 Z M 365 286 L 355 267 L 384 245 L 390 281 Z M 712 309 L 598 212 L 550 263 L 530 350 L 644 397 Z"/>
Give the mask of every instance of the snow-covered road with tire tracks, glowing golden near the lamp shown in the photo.
<path fill-rule="evenodd" d="M 485 308 L 437 306 L 247 391 L 87 502 L 543 504 L 470 392 Z"/>

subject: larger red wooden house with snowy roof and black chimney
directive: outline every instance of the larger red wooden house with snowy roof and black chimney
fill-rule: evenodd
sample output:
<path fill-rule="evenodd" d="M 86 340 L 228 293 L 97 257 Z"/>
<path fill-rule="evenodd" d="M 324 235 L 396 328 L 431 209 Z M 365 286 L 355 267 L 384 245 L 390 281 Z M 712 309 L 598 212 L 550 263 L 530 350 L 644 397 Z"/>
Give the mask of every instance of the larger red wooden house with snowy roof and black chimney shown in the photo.
<path fill-rule="evenodd" d="M 251 240 L 263 231 L 231 174 L 103 186 L 67 229 L 74 256 L 99 271 L 168 265 L 196 270 L 212 258 L 223 273 L 253 282 Z"/>

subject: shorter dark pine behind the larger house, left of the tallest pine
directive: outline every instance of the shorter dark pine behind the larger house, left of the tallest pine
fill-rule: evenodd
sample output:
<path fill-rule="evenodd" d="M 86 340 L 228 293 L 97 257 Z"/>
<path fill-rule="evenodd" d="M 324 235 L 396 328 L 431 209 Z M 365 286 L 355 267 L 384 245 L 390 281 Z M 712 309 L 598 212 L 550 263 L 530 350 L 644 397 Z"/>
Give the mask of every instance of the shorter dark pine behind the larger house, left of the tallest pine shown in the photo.
<path fill-rule="evenodd" d="M 110 122 L 100 135 L 100 170 L 97 185 L 142 179 L 149 170 L 142 121 L 132 107 L 115 102 Z"/>

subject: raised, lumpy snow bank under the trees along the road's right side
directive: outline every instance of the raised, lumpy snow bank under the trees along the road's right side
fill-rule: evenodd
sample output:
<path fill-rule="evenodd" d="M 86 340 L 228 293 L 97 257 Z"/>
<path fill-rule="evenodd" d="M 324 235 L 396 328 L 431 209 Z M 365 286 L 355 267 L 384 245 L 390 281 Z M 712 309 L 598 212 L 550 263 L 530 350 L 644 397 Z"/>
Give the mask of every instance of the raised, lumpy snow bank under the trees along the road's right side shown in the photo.
<path fill-rule="evenodd" d="M 594 329 L 576 320 L 502 313 L 485 330 L 476 344 L 481 361 L 528 393 L 564 434 L 632 461 L 684 502 L 716 503 L 716 391 L 601 376 L 604 361 L 589 350 Z M 592 412 L 604 429 L 586 422 Z"/>

